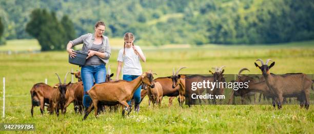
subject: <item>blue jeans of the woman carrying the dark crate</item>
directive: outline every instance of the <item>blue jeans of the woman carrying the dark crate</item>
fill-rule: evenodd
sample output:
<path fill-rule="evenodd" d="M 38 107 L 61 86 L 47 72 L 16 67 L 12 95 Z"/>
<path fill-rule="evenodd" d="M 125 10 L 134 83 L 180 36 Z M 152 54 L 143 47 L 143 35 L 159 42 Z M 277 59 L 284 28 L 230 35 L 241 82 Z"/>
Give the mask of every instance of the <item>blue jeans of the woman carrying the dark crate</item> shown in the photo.
<path fill-rule="evenodd" d="M 105 82 L 106 80 L 106 67 L 105 64 L 101 65 L 84 65 L 81 68 L 81 76 L 84 86 L 84 96 L 83 96 L 83 105 L 85 108 L 88 108 L 91 102 L 91 98 L 86 94 L 87 91 L 95 83 Z"/>

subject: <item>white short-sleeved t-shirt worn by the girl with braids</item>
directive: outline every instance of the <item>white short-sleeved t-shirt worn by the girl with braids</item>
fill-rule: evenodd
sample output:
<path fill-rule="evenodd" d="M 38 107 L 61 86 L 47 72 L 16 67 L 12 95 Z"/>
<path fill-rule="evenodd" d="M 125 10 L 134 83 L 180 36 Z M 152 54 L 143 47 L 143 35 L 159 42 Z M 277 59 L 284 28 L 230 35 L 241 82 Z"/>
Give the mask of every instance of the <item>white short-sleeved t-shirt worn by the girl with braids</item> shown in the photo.
<path fill-rule="evenodd" d="M 143 54 L 139 46 L 135 46 L 139 53 Z M 142 75 L 142 66 L 140 62 L 140 56 L 136 55 L 133 48 L 125 48 L 125 54 L 123 55 L 123 49 L 119 51 L 117 61 L 123 62 L 123 75 Z"/>

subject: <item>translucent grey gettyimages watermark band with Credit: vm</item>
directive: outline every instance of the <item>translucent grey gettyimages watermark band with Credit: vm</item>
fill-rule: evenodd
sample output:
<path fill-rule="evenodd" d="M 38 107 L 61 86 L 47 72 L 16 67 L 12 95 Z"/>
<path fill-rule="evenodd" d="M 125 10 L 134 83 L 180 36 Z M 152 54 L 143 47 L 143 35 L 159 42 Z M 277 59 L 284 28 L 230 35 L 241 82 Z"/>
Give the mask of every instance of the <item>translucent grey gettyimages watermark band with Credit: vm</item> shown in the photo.
<path fill-rule="evenodd" d="M 186 75 L 185 104 L 264 105 L 277 103 L 276 99 L 282 104 L 314 101 L 313 74 L 269 75 Z"/>

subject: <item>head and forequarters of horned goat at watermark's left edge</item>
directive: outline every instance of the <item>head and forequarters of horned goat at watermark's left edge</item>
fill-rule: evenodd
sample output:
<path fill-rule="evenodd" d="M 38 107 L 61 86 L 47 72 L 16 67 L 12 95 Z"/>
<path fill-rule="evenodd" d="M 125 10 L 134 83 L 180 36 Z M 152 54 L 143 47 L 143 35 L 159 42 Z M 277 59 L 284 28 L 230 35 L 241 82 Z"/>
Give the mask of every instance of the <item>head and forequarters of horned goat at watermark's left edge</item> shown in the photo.
<path fill-rule="evenodd" d="M 176 86 L 180 86 L 179 88 L 179 105 L 183 106 L 183 102 L 185 101 L 185 75 L 179 75 L 180 70 L 185 69 L 186 67 L 181 67 L 176 71 L 174 74 L 174 68 L 172 70 L 172 88 L 175 88 Z M 183 77 L 181 77 L 183 76 Z"/>

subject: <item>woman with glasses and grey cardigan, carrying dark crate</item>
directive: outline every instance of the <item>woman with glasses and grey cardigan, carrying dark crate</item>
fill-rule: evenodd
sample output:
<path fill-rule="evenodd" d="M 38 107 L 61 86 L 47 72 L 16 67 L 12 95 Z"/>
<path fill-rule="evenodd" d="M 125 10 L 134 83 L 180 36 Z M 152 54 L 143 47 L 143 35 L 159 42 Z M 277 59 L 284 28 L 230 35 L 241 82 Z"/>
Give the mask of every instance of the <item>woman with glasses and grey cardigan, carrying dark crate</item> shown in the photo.
<path fill-rule="evenodd" d="M 105 82 L 106 80 L 106 63 L 110 58 L 110 45 L 107 36 L 104 36 L 106 25 L 103 21 L 98 21 L 95 24 L 95 32 L 88 33 L 69 41 L 67 52 L 70 57 L 75 57 L 75 52 L 71 49 L 77 44 L 83 43 L 82 51 L 88 51 L 88 56 L 85 65 L 81 68 L 82 81 L 84 85 L 83 105 L 85 110 L 89 107 L 91 98 L 87 95 L 87 91 L 95 83 Z"/>

